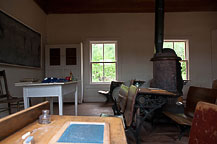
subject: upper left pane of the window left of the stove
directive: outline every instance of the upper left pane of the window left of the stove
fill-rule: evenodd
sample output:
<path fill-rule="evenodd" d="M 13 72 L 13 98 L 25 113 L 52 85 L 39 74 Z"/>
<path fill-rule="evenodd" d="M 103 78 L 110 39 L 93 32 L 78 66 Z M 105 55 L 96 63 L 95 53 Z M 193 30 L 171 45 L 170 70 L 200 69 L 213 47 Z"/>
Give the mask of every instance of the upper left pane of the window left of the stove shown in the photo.
<path fill-rule="evenodd" d="M 103 44 L 92 44 L 92 62 L 103 61 Z"/>

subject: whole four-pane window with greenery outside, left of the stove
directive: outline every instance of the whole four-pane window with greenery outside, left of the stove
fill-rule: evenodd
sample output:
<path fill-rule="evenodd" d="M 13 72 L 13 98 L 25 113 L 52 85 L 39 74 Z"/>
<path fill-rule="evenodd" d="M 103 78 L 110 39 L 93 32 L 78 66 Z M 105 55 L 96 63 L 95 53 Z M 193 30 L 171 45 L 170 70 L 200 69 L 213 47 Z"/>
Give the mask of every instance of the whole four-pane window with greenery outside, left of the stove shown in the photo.
<path fill-rule="evenodd" d="M 90 42 L 91 83 L 117 79 L 117 41 Z"/>

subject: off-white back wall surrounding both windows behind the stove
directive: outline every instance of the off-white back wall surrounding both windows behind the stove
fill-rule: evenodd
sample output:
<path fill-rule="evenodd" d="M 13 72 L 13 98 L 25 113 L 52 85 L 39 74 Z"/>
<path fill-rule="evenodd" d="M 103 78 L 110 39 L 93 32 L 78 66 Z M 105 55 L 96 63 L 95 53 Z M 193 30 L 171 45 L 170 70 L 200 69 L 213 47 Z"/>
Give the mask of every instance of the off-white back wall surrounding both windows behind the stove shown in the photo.
<path fill-rule="evenodd" d="M 189 85 L 210 87 L 212 82 L 211 31 L 217 28 L 217 12 L 166 13 L 165 38 L 190 40 Z M 89 84 L 88 40 L 119 42 L 119 80 L 152 79 L 154 14 L 51 14 L 47 20 L 47 43 L 84 42 L 84 99 L 102 101 L 102 87 Z M 105 88 L 105 87 L 104 87 Z"/>

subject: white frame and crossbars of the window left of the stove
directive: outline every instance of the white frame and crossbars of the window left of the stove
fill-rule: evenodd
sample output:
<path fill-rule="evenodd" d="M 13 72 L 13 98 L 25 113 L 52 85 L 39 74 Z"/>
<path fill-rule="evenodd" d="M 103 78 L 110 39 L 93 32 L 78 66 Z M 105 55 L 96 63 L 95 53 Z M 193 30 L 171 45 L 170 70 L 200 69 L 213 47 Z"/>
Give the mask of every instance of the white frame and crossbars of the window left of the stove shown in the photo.
<path fill-rule="evenodd" d="M 104 55 L 104 44 L 115 44 L 115 61 L 114 62 L 92 62 L 92 44 L 103 44 L 103 55 Z M 93 63 L 115 63 L 115 75 L 118 80 L 118 41 L 117 40 L 92 40 L 89 41 L 89 64 L 90 64 L 90 84 L 110 84 L 111 82 L 93 82 L 92 81 L 92 64 Z M 103 75 L 104 75 L 104 67 L 103 67 Z"/>

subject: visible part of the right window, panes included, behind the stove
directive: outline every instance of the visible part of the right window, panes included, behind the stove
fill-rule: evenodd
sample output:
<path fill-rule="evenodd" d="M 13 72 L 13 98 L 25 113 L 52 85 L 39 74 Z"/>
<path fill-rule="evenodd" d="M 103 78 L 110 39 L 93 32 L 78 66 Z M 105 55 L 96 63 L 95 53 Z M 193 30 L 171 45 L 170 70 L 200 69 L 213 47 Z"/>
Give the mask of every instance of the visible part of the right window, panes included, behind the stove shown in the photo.
<path fill-rule="evenodd" d="M 188 40 L 164 40 L 163 48 L 173 49 L 182 60 L 182 79 L 189 79 Z"/>

